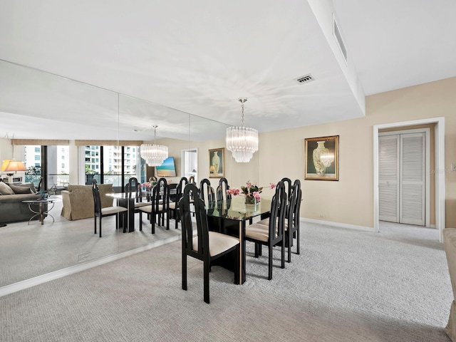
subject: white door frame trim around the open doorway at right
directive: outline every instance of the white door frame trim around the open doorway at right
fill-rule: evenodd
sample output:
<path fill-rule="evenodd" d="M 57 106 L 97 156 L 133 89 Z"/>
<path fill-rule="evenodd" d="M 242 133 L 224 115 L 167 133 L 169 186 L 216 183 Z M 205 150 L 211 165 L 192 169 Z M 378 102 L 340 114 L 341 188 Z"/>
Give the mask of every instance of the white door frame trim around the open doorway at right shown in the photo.
<path fill-rule="evenodd" d="M 378 224 L 378 130 L 411 125 L 435 123 L 435 228 L 439 230 L 439 241 L 443 242 L 445 229 L 445 118 L 384 123 L 373 126 L 373 227 L 379 232 Z"/>

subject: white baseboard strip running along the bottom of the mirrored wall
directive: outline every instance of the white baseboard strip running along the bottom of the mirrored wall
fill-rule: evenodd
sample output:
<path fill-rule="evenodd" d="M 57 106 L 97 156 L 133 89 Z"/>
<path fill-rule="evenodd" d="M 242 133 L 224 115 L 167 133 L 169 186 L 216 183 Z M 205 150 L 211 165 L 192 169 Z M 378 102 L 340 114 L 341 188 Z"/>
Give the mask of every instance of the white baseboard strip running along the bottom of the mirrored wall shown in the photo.
<path fill-rule="evenodd" d="M 43 274 L 41 276 L 35 276 L 31 279 L 26 279 L 24 281 L 19 281 L 17 283 L 11 284 L 11 285 L 2 286 L 2 287 L 0 287 L 0 297 L 6 296 L 7 294 L 12 294 L 16 291 L 28 289 L 29 287 L 32 287 L 32 286 L 35 286 L 38 284 L 46 283 L 46 281 L 51 281 L 54 279 L 62 278 L 63 276 L 68 276 L 69 274 L 74 274 L 77 272 L 85 271 L 86 269 L 91 269 L 92 267 L 95 267 L 95 266 L 107 264 L 110 261 L 115 261 L 115 260 L 122 259 L 125 257 L 130 257 L 130 255 L 137 254 L 140 252 L 145 252 L 149 249 L 162 246 L 163 244 L 169 244 L 170 242 L 175 242 L 177 240 L 180 240 L 181 237 L 182 237 L 182 235 L 178 234 L 178 235 L 175 235 L 174 237 L 168 237 L 166 239 L 152 242 L 151 244 L 147 244 L 142 247 L 131 249 L 130 251 L 111 254 L 106 257 L 84 262 L 83 264 L 70 266 L 70 267 L 67 267 L 66 269 L 59 269 L 58 271 L 53 271 L 48 274 Z"/>

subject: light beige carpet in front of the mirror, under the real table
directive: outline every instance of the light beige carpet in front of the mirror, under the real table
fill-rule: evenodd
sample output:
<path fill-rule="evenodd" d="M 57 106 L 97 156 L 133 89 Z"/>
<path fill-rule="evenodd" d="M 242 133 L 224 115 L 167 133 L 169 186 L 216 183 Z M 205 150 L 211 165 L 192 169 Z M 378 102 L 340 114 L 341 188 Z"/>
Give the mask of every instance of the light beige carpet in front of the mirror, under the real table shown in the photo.
<path fill-rule="evenodd" d="M 211 304 L 202 263 L 180 242 L 0 298 L 1 341 L 449 341 L 452 302 L 435 229 L 380 233 L 302 224 L 301 254 L 266 280 L 267 253 L 247 254 L 247 281 L 218 266 Z"/>

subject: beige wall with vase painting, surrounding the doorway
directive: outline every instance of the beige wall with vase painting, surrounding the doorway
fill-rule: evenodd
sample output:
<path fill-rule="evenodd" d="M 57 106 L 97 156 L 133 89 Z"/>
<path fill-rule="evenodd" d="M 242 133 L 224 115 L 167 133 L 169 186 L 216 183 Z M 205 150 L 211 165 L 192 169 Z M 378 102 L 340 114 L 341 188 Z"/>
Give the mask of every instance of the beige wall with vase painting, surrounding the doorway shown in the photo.
<path fill-rule="evenodd" d="M 373 227 L 373 126 L 445 117 L 446 227 L 456 227 L 456 78 L 366 98 L 366 118 L 260 135 L 259 181 L 302 183 L 301 217 Z M 304 139 L 339 135 L 339 181 L 304 180 Z"/>

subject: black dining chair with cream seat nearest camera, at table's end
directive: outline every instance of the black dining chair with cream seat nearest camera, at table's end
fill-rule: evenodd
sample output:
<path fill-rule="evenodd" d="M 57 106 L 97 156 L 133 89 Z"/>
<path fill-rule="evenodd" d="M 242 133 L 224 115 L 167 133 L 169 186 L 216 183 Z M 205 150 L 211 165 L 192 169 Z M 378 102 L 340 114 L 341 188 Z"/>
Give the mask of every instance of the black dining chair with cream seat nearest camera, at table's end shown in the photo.
<path fill-rule="evenodd" d="M 188 184 L 179 202 L 182 222 L 182 289 L 187 290 L 187 256 L 203 261 L 204 264 L 204 301 L 209 304 L 209 271 L 211 262 L 228 253 L 234 253 L 236 265 L 239 264 L 239 239 L 217 232 L 209 232 L 207 212 L 204 202 L 195 198 L 190 202 L 190 192 L 197 194 L 195 185 Z M 190 204 L 195 206 L 197 235 L 193 236 L 195 221 L 190 214 Z M 239 284 L 239 270 L 234 268 L 234 284 Z"/>

